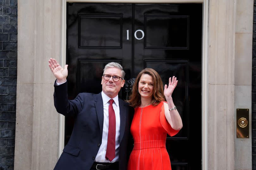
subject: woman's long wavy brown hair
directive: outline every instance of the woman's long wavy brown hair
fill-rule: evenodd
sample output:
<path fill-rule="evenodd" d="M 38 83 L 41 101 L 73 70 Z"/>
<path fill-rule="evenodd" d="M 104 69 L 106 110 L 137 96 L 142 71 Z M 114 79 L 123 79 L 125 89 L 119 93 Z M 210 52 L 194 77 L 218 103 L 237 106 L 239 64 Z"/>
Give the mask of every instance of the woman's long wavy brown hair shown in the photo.
<path fill-rule="evenodd" d="M 130 103 L 130 106 L 134 108 L 140 106 L 141 104 L 141 97 L 138 91 L 138 87 L 139 80 L 143 74 L 148 74 L 153 77 L 154 88 L 151 101 L 152 105 L 156 106 L 160 102 L 165 101 L 165 97 L 163 94 L 163 82 L 160 75 L 152 68 L 145 68 L 137 75 L 137 78 L 135 79 L 135 82 L 132 86 L 131 95 L 129 97 L 129 100 L 127 101 L 128 103 Z"/>

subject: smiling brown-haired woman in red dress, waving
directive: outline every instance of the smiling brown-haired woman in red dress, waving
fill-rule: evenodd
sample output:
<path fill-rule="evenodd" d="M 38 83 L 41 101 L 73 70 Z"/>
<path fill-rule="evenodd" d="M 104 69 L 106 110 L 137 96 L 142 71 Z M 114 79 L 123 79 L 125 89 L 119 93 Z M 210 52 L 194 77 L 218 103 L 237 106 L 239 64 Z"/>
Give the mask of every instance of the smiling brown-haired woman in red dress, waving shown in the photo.
<path fill-rule="evenodd" d="M 173 76 L 163 90 L 161 77 L 154 69 L 145 68 L 138 74 L 128 101 L 135 108 L 131 124 L 134 147 L 128 170 L 171 170 L 166 136 L 167 133 L 174 136 L 182 128 L 180 114 L 172 100 L 177 83 Z"/>

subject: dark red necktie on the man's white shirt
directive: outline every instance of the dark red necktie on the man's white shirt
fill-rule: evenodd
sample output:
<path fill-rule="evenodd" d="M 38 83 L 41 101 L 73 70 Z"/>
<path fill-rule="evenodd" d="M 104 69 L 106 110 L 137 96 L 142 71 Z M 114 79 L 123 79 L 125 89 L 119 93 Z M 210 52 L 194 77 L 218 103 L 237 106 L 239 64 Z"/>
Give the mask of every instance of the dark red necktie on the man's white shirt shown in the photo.
<path fill-rule="evenodd" d="M 109 100 L 108 106 L 108 135 L 106 159 L 112 161 L 116 157 L 116 116 L 113 109 L 113 99 Z"/>

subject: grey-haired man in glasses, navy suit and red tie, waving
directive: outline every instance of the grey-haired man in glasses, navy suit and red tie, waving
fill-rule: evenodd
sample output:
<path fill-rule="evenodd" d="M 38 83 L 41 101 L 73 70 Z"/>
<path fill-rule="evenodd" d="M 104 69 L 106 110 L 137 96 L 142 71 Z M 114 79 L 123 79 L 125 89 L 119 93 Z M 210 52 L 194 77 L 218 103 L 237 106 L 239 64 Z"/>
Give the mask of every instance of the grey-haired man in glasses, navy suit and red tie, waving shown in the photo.
<path fill-rule="evenodd" d="M 55 59 L 49 67 L 56 78 L 54 106 L 58 113 L 72 115 L 75 124 L 55 170 L 125 170 L 128 160 L 131 108 L 118 98 L 125 72 L 115 62 L 108 63 L 101 79 L 99 94 L 79 93 L 68 100 L 68 65 L 62 68 Z"/>

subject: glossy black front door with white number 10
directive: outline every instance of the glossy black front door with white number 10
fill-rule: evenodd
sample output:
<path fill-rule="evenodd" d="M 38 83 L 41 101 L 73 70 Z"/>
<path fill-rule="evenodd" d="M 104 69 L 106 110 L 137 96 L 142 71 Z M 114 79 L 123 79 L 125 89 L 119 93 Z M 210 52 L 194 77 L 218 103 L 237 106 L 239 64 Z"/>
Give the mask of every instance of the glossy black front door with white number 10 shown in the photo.
<path fill-rule="evenodd" d="M 172 169 L 201 169 L 202 4 L 67 3 L 69 98 L 101 92 L 108 62 L 120 63 L 125 80 L 146 67 L 164 84 L 179 80 L 173 98 L 183 128 L 168 137 Z M 125 99 L 124 89 L 119 97 Z M 73 120 L 66 117 L 65 144 Z"/>

